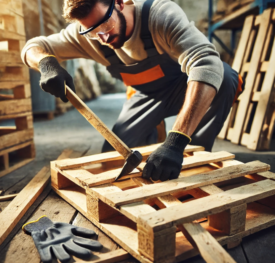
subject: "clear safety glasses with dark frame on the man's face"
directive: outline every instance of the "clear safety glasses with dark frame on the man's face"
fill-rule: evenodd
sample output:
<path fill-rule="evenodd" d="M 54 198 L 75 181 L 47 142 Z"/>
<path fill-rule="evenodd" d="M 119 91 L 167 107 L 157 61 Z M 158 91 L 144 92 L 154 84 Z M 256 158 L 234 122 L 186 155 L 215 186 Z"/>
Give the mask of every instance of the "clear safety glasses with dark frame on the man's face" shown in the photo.
<path fill-rule="evenodd" d="M 81 26 L 79 26 L 79 34 L 84 35 L 89 39 L 98 39 L 98 34 L 104 35 L 111 31 L 116 25 L 116 14 L 113 13 L 113 9 L 115 6 L 115 1 L 113 0 L 112 4 L 108 8 L 108 11 L 104 18 L 97 23 L 96 25 L 88 28 L 87 30 L 83 30 Z"/>

